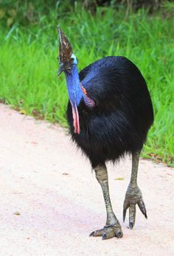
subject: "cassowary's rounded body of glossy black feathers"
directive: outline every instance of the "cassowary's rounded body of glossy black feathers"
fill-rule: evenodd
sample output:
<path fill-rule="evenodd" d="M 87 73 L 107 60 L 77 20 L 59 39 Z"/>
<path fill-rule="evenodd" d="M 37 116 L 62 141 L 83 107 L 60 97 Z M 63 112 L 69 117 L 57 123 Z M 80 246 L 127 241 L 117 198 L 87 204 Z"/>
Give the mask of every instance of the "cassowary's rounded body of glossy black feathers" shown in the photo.
<path fill-rule="evenodd" d="M 83 69 L 80 82 L 96 104 L 90 108 L 80 101 L 80 134 L 74 133 L 70 102 L 67 119 L 72 139 L 92 167 L 141 151 L 153 123 L 153 107 L 139 69 L 125 57 L 106 57 Z"/>

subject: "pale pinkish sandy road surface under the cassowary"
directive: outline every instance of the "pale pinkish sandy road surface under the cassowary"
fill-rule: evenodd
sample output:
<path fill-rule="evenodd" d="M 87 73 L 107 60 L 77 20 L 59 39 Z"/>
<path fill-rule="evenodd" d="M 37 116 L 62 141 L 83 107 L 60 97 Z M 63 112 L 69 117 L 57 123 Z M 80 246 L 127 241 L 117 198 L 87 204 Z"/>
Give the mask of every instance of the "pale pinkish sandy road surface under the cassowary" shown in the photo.
<path fill-rule="evenodd" d="M 88 160 L 63 128 L 0 105 L 0 255 L 174 255 L 174 170 L 141 160 L 148 219 L 137 210 L 133 230 L 128 217 L 122 223 L 130 159 L 108 171 L 124 237 L 102 241 L 88 237 L 105 224 L 102 191 Z"/>

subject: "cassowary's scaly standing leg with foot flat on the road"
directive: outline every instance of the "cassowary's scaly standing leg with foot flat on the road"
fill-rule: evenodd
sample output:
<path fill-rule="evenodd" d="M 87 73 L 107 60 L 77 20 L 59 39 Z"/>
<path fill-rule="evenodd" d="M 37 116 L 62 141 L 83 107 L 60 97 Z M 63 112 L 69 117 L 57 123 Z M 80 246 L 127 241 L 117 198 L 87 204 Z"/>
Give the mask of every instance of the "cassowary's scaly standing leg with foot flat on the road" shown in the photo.
<path fill-rule="evenodd" d="M 91 232 L 90 236 L 102 236 L 102 240 L 113 238 L 122 238 L 122 228 L 117 220 L 111 206 L 111 199 L 108 189 L 108 172 L 105 165 L 97 165 L 94 168 L 97 181 L 102 187 L 103 197 L 105 199 L 105 208 L 107 212 L 106 224 L 102 229 Z"/>

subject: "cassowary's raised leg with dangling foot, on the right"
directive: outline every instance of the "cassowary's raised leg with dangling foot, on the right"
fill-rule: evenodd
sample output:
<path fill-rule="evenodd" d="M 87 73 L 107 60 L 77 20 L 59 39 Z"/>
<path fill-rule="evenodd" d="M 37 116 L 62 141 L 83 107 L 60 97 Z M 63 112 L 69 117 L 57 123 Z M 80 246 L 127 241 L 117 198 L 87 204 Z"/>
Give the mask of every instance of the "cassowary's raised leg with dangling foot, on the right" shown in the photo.
<path fill-rule="evenodd" d="M 125 221 L 126 210 L 129 208 L 129 226 L 133 229 L 136 220 L 136 204 L 139 209 L 147 218 L 147 212 L 145 209 L 145 203 L 142 199 L 142 192 L 137 185 L 137 174 L 139 167 L 139 155 L 140 151 L 132 154 L 132 172 L 128 190 L 125 194 L 125 201 L 123 204 L 123 221 Z"/>

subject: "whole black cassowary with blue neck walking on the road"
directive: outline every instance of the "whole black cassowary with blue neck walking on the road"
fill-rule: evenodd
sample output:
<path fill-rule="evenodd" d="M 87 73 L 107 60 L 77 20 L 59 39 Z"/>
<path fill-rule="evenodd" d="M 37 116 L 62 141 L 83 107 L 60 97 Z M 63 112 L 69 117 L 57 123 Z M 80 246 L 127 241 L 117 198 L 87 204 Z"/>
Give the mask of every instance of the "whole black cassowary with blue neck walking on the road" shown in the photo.
<path fill-rule="evenodd" d="M 65 72 L 69 92 L 67 120 L 72 139 L 88 156 L 102 187 L 107 212 L 102 229 L 91 236 L 122 238 L 122 228 L 114 214 L 108 189 L 105 162 L 115 162 L 132 154 L 132 171 L 123 204 L 123 221 L 129 208 L 133 229 L 136 204 L 147 218 L 142 192 L 137 185 L 139 155 L 153 124 L 153 105 L 145 79 L 128 58 L 110 56 L 91 63 L 80 73 L 69 39 L 58 28 L 60 38 L 59 71 Z"/>

